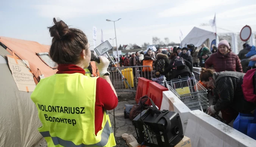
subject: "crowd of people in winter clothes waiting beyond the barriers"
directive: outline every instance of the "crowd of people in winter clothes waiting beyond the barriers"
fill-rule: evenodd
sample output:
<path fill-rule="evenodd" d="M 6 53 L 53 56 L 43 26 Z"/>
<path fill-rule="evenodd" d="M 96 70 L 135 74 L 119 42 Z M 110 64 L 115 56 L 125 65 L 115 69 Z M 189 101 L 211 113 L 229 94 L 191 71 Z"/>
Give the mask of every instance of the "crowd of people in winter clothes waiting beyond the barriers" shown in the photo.
<path fill-rule="evenodd" d="M 187 44 L 186 47 L 174 47 L 173 50 L 156 52 L 148 49 L 131 56 L 120 58 L 122 66 L 145 66 L 146 63 L 152 64 L 152 77 L 146 77 L 150 80 L 164 86 L 164 79 L 170 81 L 176 78 L 189 77 L 193 72 L 193 67 L 201 67 L 200 82 L 206 89 L 212 90 L 214 97 L 213 104 L 208 108 L 209 115 L 215 115 L 219 112 L 222 118 L 231 122 L 239 113 L 251 114 L 256 108 L 255 102 L 247 101 L 244 96 L 242 84 L 245 73 L 248 70 L 255 70 L 256 50 L 255 46 L 243 44 L 238 55 L 232 52 L 231 46 L 226 40 L 221 40 L 218 47 L 209 49 L 206 44 L 199 48 L 193 44 Z M 145 61 L 151 62 L 145 62 Z M 248 80 L 248 79 L 247 79 Z M 252 80 L 252 79 L 251 79 Z M 256 81 L 253 79 L 253 81 Z M 249 81 L 248 81 L 249 82 Z M 256 86 L 253 83 L 256 90 Z M 255 95 L 255 90 L 252 91 Z"/>

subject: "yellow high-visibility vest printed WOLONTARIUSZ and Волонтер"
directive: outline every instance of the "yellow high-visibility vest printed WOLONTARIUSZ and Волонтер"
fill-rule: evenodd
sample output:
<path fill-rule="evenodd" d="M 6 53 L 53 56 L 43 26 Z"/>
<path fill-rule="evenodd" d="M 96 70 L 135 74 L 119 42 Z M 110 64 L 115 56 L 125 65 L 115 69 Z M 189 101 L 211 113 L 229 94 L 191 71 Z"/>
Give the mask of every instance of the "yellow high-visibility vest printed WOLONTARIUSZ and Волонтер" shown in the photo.
<path fill-rule="evenodd" d="M 97 77 L 80 73 L 55 74 L 41 79 L 31 95 L 48 147 L 113 147 L 113 130 L 105 110 L 101 130 L 95 135 Z"/>

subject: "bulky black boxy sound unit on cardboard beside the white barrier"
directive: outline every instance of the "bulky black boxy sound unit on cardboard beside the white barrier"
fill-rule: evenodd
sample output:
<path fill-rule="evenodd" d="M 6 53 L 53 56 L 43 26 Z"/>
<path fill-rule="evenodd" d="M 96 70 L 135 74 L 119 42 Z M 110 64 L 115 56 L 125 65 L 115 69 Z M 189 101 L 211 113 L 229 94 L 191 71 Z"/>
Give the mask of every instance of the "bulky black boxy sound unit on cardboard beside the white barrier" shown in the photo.
<path fill-rule="evenodd" d="M 137 142 L 150 147 L 174 147 L 184 137 L 180 115 L 169 110 L 152 107 L 144 110 L 133 119 Z"/>

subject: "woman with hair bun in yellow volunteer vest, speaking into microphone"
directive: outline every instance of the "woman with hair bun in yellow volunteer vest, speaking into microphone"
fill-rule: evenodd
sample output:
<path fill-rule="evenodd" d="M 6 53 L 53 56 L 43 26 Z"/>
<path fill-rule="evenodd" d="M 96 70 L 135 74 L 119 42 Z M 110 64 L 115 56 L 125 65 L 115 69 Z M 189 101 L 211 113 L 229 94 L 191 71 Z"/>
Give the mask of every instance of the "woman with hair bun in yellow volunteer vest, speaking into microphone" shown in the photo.
<path fill-rule="evenodd" d="M 53 22 L 50 57 L 58 63 L 58 72 L 41 79 L 31 95 L 42 122 L 39 132 L 48 147 L 116 146 L 107 110 L 118 100 L 108 76 L 108 59 L 99 56 L 100 77 L 85 76 L 91 60 L 86 35 L 62 20 Z"/>

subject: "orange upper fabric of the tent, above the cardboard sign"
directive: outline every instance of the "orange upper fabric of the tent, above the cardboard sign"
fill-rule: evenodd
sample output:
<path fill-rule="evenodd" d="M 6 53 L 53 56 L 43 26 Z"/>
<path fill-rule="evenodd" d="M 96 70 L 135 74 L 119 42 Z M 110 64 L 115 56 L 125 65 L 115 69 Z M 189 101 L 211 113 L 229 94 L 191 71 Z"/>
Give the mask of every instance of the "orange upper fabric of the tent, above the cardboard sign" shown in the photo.
<path fill-rule="evenodd" d="M 28 61 L 36 84 L 40 81 L 39 75 L 43 74 L 44 77 L 49 77 L 57 72 L 56 67 L 51 67 L 48 65 L 49 61 L 45 61 L 50 60 L 50 58 L 42 58 L 41 55 L 37 55 L 37 53 L 44 53 L 46 55 L 49 52 L 50 46 L 42 45 L 35 41 L 8 37 L 0 37 L 0 43 L 5 46 L 6 51 L 11 55 L 14 52 L 18 58 Z"/>

